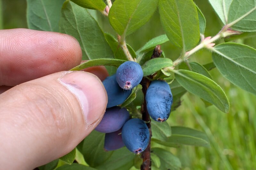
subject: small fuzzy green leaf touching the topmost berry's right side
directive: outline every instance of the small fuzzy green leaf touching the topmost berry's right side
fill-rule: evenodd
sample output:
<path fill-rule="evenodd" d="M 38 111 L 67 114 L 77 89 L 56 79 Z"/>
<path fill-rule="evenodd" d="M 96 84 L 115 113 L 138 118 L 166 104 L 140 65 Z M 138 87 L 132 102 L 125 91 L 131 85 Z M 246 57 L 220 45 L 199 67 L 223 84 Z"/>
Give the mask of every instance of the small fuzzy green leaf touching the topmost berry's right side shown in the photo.
<path fill-rule="evenodd" d="M 169 58 L 154 58 L 148 60 L 145 64 L 141 66 L 143 70 L 143 75 L 148 76 L 155 73 L 158 70 L 163 69 L 164 67 L 172 67 L 172 60 Z"/>

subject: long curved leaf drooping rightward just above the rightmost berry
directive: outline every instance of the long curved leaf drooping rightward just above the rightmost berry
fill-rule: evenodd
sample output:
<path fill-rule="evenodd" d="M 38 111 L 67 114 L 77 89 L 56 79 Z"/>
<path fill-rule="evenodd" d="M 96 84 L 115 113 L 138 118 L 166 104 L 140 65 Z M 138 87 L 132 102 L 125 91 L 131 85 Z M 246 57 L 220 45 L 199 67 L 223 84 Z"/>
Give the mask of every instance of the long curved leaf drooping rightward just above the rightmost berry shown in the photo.
<path fill-rule="evenodd" d="M 210 78 L 188 70 L 175 71 L 175 78 L 188 92 L 214 104 L 222 112 L 228 113 L 229 103 L 226 94 Z"/>

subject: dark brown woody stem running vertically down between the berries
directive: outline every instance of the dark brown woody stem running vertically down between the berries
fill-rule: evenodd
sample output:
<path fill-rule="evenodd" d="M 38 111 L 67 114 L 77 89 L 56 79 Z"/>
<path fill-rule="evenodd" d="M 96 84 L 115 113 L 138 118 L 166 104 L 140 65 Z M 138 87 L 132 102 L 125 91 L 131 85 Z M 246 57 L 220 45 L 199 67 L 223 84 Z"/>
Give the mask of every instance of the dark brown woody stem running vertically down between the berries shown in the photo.
<path fill-rule="evenodd" d="M 152 136 L 152 131 L 151 131 L 151 120 L 148 114 L 148 110 L 147 110 L 147 103 L 146 103 L 146 92 L 148 90 L 148 86 L 150 85 L 150 81 L 143 77 L 142 81 L 141 81 L 141 85 L 142 85 L 142 92 L 144 94 L 144 102 L 141 106 L 141 113 L 142 113 L 142 120 L 144 122 L 146 122 L 146 125 L 148 126 L 149 129 L 149 143 L 147 148 L 145 149 L 144 152 L 142 152 L 141 154 L 141 158 L 143 159 L 143 163 L 140 166 L 141 170 L 151 170 L 151 160 L 150 160 L 150 152 L 151 152 L 151 136 Z"/>

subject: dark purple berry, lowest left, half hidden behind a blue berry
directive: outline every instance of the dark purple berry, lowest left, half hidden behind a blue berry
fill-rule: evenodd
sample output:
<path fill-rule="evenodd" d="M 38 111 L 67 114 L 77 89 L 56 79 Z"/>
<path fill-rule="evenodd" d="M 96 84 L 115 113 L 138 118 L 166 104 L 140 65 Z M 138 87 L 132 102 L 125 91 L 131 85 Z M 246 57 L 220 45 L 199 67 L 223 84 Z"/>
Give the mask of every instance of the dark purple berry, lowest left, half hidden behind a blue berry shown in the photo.
<path fill-rule="evenodd" d="M 121 132 L 122 129 L 119 129 L 115 132 L 105 134 L 104 149 L 106 151 L 113 151 L 124 146 Z"/>

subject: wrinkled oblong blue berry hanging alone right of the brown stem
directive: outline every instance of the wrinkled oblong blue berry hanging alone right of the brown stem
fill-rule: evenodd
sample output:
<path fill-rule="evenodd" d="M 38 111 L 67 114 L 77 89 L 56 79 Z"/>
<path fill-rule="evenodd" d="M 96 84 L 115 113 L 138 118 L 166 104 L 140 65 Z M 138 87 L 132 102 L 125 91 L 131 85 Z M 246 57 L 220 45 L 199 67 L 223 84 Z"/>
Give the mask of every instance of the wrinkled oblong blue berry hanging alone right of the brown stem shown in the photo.
<path fill-rule="evenodd" d="M 172 106 L 172 92 L 168 83 L 154 80 L 146 92 L 148 114 L 156 122 L 168 119 Z"/>

